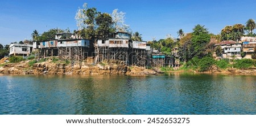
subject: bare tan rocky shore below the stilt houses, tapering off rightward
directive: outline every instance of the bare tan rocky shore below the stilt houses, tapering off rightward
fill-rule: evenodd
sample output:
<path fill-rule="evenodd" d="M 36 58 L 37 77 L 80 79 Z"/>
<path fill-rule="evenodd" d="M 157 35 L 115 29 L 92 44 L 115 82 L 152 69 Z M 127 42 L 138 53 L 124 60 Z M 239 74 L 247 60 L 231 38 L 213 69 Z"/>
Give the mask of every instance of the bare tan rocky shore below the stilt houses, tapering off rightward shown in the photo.
<path fill-rule="evenodd" d="M 66 65 L 65 63 L 34 63 L 30 66 L 26 62 L 9 63 L 0 67 L 2 74 L 15 75 L 155 75 L 152 69 L 143 67 L 129 67 L 123 64 L 112 66 L 86 66 L 80 64 Z"/>

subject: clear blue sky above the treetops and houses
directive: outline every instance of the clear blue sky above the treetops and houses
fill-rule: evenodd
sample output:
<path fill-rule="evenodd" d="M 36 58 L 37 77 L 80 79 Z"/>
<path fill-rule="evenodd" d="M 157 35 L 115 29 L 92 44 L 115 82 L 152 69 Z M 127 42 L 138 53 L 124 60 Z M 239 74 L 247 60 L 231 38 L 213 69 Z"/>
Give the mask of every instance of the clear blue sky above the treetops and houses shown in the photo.
<path fill-rule="evenodd" d="M 191 0 L 73 0 L 73 1 L 0 1 L 0 43 L 31 39 L 35 29 L 39 33 L 51 28 L 77 29 L 75 14 L 84 3 L 100 12 L 112 13 L 115 8 L 126 12 L 125 23 L 133 32 L 142 34 L 144 41 L 177 37 L 177 31 L 192 32 L 197 24 L 218 34 L 226 25 L 245 24 L 256 19 L 255 0 L 191 1 Z"/>

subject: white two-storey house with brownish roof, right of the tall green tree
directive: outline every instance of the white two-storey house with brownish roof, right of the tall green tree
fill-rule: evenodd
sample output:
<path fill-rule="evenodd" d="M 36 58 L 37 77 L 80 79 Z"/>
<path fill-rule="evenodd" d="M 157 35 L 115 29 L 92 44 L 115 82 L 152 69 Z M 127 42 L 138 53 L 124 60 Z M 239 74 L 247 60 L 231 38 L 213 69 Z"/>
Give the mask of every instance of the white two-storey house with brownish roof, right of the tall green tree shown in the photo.
<path fill-rule="evenodd" d="M 221 47 L 221 49 L 222 49 L 221 58 L 242 59 L 242 57 L 241 57 L 242 44 L 241 43 L 237 43 L 236 41 L 233 41 L 233 40 L 226 40 L 226 41 L 222 41 L 218 44 L 215 44 L 214 46 Z"/>

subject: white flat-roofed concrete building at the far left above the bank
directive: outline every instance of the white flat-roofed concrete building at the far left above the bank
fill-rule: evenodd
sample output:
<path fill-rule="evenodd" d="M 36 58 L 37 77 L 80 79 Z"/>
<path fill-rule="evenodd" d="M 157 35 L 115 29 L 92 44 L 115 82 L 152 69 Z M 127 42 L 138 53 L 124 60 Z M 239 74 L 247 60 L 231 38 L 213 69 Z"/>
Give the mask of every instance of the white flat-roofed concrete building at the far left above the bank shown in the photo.
<path fill-rule="evenodd" d="M 32 51 L 33 45 L 30 44 L 10 44 L 9 55 L 22 55 L 28 56 Z"/>

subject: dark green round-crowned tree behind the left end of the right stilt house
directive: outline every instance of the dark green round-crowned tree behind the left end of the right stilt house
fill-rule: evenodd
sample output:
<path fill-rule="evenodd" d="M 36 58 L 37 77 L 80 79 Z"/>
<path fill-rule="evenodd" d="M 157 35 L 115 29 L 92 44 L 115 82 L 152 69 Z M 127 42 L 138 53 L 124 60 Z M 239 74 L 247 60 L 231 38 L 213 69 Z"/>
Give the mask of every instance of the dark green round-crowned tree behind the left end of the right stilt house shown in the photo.
<path fill-rule="evenodd" d="M 112 18 L 109 14 L 98 14 L 96 24 L 98 25 L 96 29 L 97 39 L 108 38 L 115 31 Z"/>

